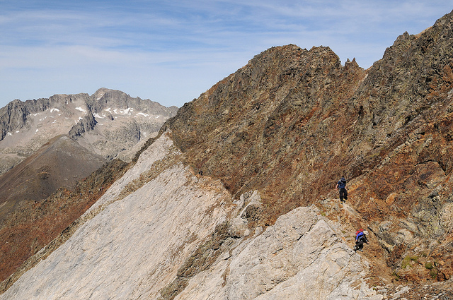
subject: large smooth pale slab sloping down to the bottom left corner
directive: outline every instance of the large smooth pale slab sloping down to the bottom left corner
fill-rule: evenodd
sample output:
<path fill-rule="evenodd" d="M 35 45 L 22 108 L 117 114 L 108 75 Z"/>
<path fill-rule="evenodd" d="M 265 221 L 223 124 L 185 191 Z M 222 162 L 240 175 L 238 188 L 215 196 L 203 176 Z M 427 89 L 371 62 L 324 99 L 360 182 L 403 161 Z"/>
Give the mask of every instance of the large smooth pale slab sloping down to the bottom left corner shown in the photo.
<path fill-rule="evenodd" d="M 180 163 L 118 197 L 170 148 L 161 138 L 144 152 L 85 214 L 94 216 L 0 299 L 155 299 L 233 206 L 218 181 Z"/>

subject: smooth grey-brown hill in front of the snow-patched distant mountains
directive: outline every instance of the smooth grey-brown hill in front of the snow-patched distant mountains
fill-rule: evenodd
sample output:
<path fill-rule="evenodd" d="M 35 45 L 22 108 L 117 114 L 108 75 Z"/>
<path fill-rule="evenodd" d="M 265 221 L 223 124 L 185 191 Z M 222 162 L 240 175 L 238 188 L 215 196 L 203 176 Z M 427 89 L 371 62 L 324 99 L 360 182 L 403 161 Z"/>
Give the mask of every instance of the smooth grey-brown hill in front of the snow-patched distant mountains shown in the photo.
<path fill-rule="evenodd" d="M 21 200 L 43 200 L 58 188 L 74 188 L 105 163 L 67 136 L 57 136 L 0 176 L 0 220 Z"/>

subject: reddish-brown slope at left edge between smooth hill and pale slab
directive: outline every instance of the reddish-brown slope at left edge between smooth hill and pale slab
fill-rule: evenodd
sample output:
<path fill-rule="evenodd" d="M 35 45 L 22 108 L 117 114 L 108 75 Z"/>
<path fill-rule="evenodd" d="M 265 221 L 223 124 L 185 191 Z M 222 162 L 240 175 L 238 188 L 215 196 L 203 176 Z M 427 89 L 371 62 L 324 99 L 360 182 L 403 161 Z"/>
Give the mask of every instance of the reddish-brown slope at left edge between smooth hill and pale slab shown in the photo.
<path fill-rule="evenodd" d="M 46 254 L 34 256 L 42 253 L 44 246 L 57 248 L 64 243 L 76 228 L 76 220 L 127 167 L 125 162 L 113 160 L 86 179 L 77 181 L 72 191 L 59 188 L 44 200 L 15 203 L 13 212 L 0 222 L 0 278 L 5 280 L 12 275 L 0 284 L 0 290 L 11 286 L 36 260 L 47 257 Z"/>

